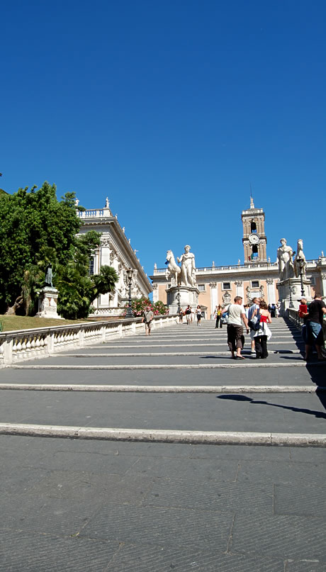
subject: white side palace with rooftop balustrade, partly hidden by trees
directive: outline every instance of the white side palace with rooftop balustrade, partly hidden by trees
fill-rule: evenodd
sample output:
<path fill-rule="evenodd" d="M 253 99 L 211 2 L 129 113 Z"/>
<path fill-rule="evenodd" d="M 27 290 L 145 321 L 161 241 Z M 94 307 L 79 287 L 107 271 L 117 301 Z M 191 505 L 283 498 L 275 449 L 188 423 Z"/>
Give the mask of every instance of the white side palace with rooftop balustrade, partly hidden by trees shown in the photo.
<path fill-rule="evenodd" d="M 152 284 L 136 256 L 137 250 L 131 246 L 130 238 L 125 236 L 125 228 L 121 228 L 118 222 L 118 215 L 113 216 L 111 213 L 108 198 L 105 207 L 77 211 L 77 215 L 82 223 L 79 235 L 89 230 L 101 232 L 101 245 L 91 257 L 89 274 L 99 274 L 101 266 L 108 265 L 113 267 L 119 276 L 115 290 L 101 294 L 94 301 L 94 315 L 120 315 L 128 302 L 128 269 L 133 269 L 132 298 L 148 296 L 152 292 Z"/>

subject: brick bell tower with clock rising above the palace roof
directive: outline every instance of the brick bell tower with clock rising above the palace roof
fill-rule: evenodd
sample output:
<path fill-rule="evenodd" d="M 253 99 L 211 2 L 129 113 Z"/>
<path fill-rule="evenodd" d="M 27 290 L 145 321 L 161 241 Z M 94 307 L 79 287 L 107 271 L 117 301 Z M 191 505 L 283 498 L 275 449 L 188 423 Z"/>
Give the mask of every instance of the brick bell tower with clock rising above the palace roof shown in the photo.
<path fill-rule="evenodd" d="M 241 220 L 245 264 L 247 262 L 267 262 L 265 213 L 262 208 L 255 208 L 252 196 L 250 196 L 250 208 L 247 211 L 242 211 Z"/>

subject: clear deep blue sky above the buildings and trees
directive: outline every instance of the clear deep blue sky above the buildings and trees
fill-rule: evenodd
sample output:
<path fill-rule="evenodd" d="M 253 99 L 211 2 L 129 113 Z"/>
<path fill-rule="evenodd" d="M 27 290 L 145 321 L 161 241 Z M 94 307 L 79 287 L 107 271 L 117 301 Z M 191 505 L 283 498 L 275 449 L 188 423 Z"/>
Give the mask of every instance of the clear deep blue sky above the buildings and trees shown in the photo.
<path fill-rule="evenodd" d="M 325 15 L 324 0 L 3 2 L 0 186 L 108 196 L 151 274 L 185 244 L 198 267 L 243 260 L 251 183 L 271 259 L 283 236 L 317 257 Z"/>

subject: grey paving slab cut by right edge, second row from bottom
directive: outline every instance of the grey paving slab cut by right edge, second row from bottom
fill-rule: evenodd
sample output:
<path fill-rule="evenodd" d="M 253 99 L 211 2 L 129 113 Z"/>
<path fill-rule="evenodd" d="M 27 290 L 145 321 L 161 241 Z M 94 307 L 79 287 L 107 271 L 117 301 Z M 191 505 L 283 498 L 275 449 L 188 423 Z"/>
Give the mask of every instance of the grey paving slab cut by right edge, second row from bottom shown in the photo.
<path fill-rule="evenodd" d="M 230 551 L 250 556 L 326 563 L 326 521 L 319 518 L 237 514 Z"/>

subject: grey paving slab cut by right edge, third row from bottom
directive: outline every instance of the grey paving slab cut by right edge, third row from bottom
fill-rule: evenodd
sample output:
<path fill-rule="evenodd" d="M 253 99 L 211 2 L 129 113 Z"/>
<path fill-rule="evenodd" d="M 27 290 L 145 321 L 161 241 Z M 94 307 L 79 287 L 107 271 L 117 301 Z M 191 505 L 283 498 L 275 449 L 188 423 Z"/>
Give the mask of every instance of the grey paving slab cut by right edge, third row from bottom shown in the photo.
<path fill-rule="evenodd" d="M 326 518 L 326 485 L 275 485 L 274 514 Z"/>

